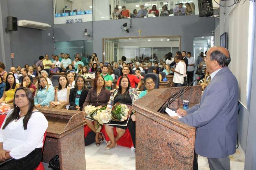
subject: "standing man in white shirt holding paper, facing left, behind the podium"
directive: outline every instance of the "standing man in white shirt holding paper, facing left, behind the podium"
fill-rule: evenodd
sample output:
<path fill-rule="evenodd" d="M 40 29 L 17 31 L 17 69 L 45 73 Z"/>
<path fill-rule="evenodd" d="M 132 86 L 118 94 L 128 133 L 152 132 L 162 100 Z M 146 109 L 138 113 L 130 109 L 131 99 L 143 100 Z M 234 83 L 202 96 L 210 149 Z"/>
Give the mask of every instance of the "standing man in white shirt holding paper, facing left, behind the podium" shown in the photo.
<path fill-rule="evenodd" d="M 180 60 L 180 56 L 175 56 L 174 61 L 176 63 L 176 67 L 175 69 L 171 68 L 171 71 L 174 73 L 173 75 L 174 87 L 181 87 L 183 86 L 183 83 L 184 83 L 183 74 L 185 73 L 185 67 Z"/>

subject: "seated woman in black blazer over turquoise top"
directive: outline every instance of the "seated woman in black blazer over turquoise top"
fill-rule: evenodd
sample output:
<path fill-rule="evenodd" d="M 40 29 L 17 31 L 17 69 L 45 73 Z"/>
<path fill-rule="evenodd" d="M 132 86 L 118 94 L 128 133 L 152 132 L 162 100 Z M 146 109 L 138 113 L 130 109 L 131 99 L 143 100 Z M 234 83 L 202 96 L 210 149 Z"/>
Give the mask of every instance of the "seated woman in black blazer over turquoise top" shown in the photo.
<path fill-rule="evenodd" d="M 85 79 L 83 76 L 78 75 L 75 78 L 75 87 L 70 89 L 69 94 L 69 110 L 81 110 L 83 109 L 83 104 L 85 98 L 88 94 L 88 89 L 85 86 Z"/>

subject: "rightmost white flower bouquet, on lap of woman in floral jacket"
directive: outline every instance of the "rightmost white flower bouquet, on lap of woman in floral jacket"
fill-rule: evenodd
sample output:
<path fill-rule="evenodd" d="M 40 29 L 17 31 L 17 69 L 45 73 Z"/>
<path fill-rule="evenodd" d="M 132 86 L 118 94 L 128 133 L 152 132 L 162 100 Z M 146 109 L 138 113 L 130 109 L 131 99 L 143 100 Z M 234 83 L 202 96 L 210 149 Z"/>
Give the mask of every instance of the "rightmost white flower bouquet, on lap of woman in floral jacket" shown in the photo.
<path fill-rule="evenodd" d="M 117 104 L 112 109 L 112 120 L 123 122 L 128 117 L 129 108 L 124 104 Z"/>

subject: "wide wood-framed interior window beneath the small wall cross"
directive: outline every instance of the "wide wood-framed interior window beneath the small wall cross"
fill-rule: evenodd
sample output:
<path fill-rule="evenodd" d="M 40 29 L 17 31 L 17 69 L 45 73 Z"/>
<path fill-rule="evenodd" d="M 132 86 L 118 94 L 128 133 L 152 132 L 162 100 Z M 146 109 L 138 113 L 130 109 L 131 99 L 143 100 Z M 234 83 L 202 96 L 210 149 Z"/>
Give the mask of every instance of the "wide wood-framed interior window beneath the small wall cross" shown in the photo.
<path fill-rule="evenodd" d="M 173 56 L 180 49 L 180 36 L 147 37 L 147 38 L 110 38 L 104 39 L 104 62 L 113 63 L 126 57 L 126 62 L 134 60 L 151 62 L 165 61 L 165 55 L 172 52 Z"/>

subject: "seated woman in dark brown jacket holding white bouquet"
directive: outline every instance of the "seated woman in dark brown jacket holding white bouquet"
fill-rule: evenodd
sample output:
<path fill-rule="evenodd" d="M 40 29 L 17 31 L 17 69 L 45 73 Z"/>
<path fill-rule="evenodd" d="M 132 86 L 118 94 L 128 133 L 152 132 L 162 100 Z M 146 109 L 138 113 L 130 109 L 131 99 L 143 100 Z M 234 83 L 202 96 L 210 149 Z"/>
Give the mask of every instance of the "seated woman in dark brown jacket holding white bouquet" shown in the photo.
<path fill-rule="evenodd" d="M 94 87 L 89 90 L 88 95 L 85 99 L 84 107 L 87 105 L 92 105 L 98 108 L 105 107 L 108 104 L 111 93 L 105 88 L 105 82 L 102 75 L 98 75 L 94 79 Z M 99 133 L 101 127 L 98 129 L 95 128 L 93 121 L 86 119 L 87 126 L 96 133 L 95 144 L 100 146 L 100 143 L 103 142 L 103 137 Z"/>

